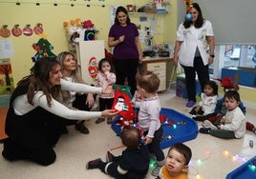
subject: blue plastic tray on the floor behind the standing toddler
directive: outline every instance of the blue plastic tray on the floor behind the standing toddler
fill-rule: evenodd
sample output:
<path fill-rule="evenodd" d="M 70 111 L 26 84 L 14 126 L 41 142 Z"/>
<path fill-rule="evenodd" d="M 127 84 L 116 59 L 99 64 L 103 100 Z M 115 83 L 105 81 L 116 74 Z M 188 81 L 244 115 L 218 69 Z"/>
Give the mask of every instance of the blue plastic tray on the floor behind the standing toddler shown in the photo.
<path fill-rule="evenodd" d="M 185 142 L 195 139 L 198 135 L 198 124 L 195 120 L 181 114 L 174 109 L 160 110 L 160 116 L 165 116 L 165 121 L 162 123 L 163 135 L 160 142 L 160 149 L 171 147 L 177 142 Z M 116 120 L 121 116 L 117 116 L 112 122 L 112 129 L 119 136 L 120 126 L 116 125 Z"/>

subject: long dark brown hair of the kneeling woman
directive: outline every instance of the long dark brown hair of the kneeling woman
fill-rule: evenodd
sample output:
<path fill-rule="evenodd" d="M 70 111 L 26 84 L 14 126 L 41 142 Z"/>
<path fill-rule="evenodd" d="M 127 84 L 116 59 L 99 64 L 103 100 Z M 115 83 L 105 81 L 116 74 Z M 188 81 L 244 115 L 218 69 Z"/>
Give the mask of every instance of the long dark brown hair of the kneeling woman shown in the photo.
<path fill-rule="evenodd" d="M 28 101 L 31 105 L 33 105 L 32 99 L 35 92 L 38 90 L 42 90 L 43 93 L 46 95 L 48 106 L 51 107 L 52 96 L 54 98 L 60 92 L 60 85 L 53 86 L 50 83 L 50 72 L 56 65 L 59 65 L 59 63 L 55 60 L 55 58 L 41 58 L 35 62 L 33 74 L 24 77 L 17 84 L 19 86 L 30 83 L 28 89 Z"/>

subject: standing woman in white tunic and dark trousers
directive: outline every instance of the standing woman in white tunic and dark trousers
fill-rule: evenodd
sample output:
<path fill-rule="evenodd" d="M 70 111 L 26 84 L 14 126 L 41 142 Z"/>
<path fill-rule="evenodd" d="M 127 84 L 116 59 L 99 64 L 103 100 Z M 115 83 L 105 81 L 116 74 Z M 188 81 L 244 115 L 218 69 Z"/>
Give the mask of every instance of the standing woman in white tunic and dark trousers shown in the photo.
<path fill-rule="evenodd" d="M 203 91 L 205 81 L 209 81 L 208 66 L 214 61 L 214 33 L 212 24 L 203 19 L 200 6 L 193 3 L 190 11 L 192 19 L 186 18 L 177 30 L 174 48 L 174 64 L 178 62 L 185 73 L 188 102 L 186 107 L 196 104 L 196 73 Z M 208 50 L 208 53 L 207 53 Z"/>

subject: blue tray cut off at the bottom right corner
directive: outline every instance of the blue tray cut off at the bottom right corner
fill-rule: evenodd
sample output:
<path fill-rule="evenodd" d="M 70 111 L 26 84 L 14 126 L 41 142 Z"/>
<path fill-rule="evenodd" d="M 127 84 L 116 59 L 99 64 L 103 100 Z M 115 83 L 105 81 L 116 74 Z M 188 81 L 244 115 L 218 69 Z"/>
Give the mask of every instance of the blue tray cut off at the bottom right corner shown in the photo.
<path fill-rule="evenodd" d="M 255 179 L 256 178 L 256 156 L 245 162 L 242 166 L 226 175 L 226 179 Z"/>

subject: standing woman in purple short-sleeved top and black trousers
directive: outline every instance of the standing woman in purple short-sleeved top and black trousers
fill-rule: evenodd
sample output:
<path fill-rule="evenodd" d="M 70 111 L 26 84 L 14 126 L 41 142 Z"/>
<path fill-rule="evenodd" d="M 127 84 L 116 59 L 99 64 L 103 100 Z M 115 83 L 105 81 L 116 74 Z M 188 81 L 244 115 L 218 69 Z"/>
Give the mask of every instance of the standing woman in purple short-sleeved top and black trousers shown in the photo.
<path fill-rule="evenodd" d="M 113 63 L 117 75 L 117 84 L 124 85 L 127 78 L 131 94 L 136 90 L 136 73 L 142 63 L 142 52 L 139 44 L 139 31 L 123 7 L 116 10 L 115 24 L 109 31 L 108 46 L 114 47 Z"/>

